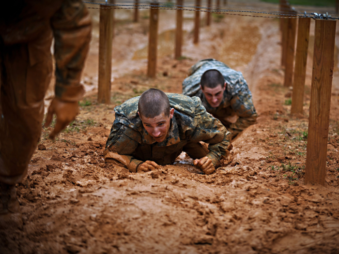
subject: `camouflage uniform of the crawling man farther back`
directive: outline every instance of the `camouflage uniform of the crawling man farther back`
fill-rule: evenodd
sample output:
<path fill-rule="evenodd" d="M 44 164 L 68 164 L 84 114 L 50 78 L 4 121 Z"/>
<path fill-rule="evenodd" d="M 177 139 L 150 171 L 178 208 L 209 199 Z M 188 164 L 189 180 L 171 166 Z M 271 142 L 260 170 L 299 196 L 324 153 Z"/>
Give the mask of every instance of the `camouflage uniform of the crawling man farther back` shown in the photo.
<path fill-rule="evenodd" d="M 217 108 L 208 104 L 200 89 L 201 75 L 212 69 L 218 70 L 224 76 L 227 84 L 224 99 Z M 190 68 L 188 77 L 183 82 L 183 94 L 190 97 L 198 96 L 207 112 L 219 119 L 232 133 L 232 137 L 254 124 L 258 117 L 253 105 L 252 94 L 241 72 L 234 71 L 226 64 L 214 59 L 200 60 Z M 239 118 L 235 123 L 232 123 L 230 117 L 234 116 Z"/>

